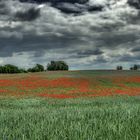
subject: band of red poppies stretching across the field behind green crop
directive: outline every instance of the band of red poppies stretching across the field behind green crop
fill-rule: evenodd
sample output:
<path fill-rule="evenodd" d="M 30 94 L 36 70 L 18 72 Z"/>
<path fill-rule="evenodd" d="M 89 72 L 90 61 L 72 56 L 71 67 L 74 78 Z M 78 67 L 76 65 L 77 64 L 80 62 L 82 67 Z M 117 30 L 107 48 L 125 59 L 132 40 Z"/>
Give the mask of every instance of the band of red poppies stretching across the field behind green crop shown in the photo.
<path fill-rule="evenodd" d="M 65 76 L 63 76 L 63 73 L 59 77 L 57 77 L 58 72 L 25 74 L 21 77 L 19 75 L 17 78 L 13 75 L 11 77 L 10 75 L 9 77 L 2 76 L 2 78 L 0 77 L 0 96 L 39 96 L 65 99 L 140 94 L 140 75 L 137 74 L 119 75 L 114 71 L 113 76 L 112 74 L 77 76 L 76 72 L 65 72 Z M 74 74 L 72 75 L 72 73 Z M 47 77 L 50 74 L 54 77 Z"/>

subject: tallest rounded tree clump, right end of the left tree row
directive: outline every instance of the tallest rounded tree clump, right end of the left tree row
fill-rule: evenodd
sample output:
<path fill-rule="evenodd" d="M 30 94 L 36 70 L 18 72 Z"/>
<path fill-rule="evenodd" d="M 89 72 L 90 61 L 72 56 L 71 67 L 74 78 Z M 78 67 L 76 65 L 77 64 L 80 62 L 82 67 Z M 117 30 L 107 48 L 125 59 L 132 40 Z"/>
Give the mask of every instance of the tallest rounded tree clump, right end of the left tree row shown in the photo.
<path fill-rule="evenodd" d="M 68 70 L 69 67 L 66 62 L 64 61 L 51 61 L 47 65 L 48 71 L 57 71 L 57 70 Z"/>

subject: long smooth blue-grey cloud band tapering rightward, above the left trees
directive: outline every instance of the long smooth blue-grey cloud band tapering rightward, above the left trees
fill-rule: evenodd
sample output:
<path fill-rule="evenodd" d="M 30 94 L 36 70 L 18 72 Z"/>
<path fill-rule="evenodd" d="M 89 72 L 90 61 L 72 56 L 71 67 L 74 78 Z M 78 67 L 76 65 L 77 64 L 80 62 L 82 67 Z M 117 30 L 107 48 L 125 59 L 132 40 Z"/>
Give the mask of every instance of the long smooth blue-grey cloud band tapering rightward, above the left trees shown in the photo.
<path fill-rule="evenodd" d="M 18 36 L 18 35 L 17 35 Z M 55 41 L 54 41 L 55 40 Z M 35 52 L 35 57 L 41 57 L 44 50 L 51 49 L 67 49 L 73 46 L 75 43 L 86 44 L 86 42 L 79 40 L 78 38 L 69 37 L 57 37 L 56 35 L 51 36 L 38 36 L 23 35 L 22 38 L 16 36 L 10 38 L 0 38 L 0 57 L 10 57 L 14 52 Z M 3 53 L 4 52 L 4 53 Z"/>

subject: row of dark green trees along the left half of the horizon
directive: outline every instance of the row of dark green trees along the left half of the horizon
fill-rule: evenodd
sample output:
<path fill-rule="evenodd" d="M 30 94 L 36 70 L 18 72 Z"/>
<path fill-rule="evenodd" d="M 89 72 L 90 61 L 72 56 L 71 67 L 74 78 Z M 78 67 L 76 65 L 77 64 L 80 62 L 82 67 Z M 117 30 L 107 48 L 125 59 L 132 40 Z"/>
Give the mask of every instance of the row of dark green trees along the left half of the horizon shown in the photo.
<path fill-rule="evenodd" d="M 32 68 L 28 68 L 27 70 L 24 68 L 19 68 L 12 64 L 6 64 L 4 66 L 0 66 L 0 73 L 28 73 L 28 72 L 43 72 L 43 71 L 56 71 L 56 70 L 69 70 L 69 66 L 64 61 L 51 61 L 48 63 L 46 69 L 41 64 L 36 64 Z"/>

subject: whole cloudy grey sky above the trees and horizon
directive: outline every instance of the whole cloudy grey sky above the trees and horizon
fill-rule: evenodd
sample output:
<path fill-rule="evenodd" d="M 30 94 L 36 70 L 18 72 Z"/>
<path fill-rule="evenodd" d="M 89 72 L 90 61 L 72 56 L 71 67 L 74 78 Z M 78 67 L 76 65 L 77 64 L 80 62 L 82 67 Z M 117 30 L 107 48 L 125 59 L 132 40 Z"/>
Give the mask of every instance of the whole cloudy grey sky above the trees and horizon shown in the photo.
<path fill-rule="evenodd" d="M 71 70 L 140 63 L 140 0 L 0 0 L 0 65 Z"/>

